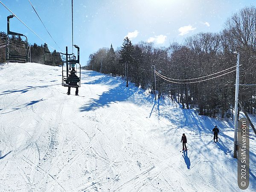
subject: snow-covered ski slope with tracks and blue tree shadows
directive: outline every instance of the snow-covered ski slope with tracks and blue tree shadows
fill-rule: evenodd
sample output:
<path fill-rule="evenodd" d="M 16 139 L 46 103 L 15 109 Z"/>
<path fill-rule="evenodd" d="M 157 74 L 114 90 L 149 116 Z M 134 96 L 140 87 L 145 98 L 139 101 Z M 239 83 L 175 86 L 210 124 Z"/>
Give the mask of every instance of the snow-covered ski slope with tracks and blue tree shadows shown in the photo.
<path fill-rule="evenodd" d="M 233 122 L 154 102 L 118 77 L 81 76 L 80 96 L 68 96 L 61 67 L 0 66 L 0 191 L 241 191 Z M 256 191 L 255 148 L 251 132 L 245 191 Z"/>

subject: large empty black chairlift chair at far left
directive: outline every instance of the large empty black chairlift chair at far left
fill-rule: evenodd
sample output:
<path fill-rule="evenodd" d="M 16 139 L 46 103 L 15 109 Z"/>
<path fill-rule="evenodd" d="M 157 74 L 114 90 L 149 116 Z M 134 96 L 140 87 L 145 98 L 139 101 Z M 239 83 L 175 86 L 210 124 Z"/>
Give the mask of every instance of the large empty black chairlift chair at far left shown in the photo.
<path fill-rule="evenodd" d="M 26 63 L 28 62 L 28 38 L 21 34 L 10 31 L 10 18 L 13 18 L 15 15 L 9 15 L 7 17 L 7 35 L 6 35 L 6 61 L 9 62 L 17 62 L 17 63 Z M 8 35 L 16 35 L 23 36 L 26 38 L 25 47 L 20 47 L 18 45 L 13 45 L 12 42 L 9 41 Z M 13 49 L 15 48 L 15 49 Z M 20 53 L 19 51 L 23 51 L 24 53 Z"/>

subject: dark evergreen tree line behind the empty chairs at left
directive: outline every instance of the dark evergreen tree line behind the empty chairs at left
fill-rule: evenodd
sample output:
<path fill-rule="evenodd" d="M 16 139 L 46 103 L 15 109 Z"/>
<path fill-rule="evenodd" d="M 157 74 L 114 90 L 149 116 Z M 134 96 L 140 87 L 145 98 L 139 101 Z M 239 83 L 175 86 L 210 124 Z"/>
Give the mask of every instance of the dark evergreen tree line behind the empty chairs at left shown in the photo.
<path fill-rule="evenodd" d="M 62 59 L 60 52 L 54 50 L 49 51 L 48 45 L 46 43 L 37 44 L 27 44 L 30 47 L 31 62 L 40 64 L 49 64 L 53 66 L 58 66 L 62 64 Z M 15 55 L 26 55 L 26 41 L 23 41 L 20 36 L 10 35 L 8 38 L 9 53 Z M 28 48 L 29 52 L 29 48 Z M 30 61 L 30 58 L 29 58 Z M 0 32 L 0 62 L 6 62 L 6 33 Z"/>

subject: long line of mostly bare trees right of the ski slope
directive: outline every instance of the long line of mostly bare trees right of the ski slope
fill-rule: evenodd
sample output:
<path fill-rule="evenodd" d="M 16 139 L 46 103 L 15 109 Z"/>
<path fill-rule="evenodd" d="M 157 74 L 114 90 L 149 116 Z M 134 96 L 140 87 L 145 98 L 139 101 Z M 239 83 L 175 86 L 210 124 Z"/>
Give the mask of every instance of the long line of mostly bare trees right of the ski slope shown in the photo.
<path fill-rule="evenodd" d="M 132 44 L 125 38 L 120 48 L 100 48 L 90 54 L 87 70 L 127 77 L 139 87 L 154 93 L 154 71 L 172 79 L 195 79 L 216 73 L 215 79 L 196 83 L 172 83 L 156 77 L 158 98 L 177 99 L 183 109 L 198 108 L 200 115 L 229 116 L 235 97 L 237 55 L 240 53 L 240 84 L 256 84 L 256 8 L 245 7 L 232 15 L 218 33 L 201 32 L 173 42 L 169 47 L 154 47 L 141 41 Z M 231 68 L 234 67 L 234 68 Z M 231 68 L 230 70 L 226 70 Z M 222 73 L 218 73 L 226 70 Z M 207 77 L 205 78 L 207 79 Z M 198 79 L 200 80 L 200 79 Z M 196 80 L 195 80 L 196 81 Z M 176 81 L 182 82 L 182 81 Z M 192 82 L 192 81 L 186 81 Z M 128 83 L 128 82 L 127 82 Z M 256 86 L 239 87 L 239 100 L 248 113 L 256 113 Z"/>

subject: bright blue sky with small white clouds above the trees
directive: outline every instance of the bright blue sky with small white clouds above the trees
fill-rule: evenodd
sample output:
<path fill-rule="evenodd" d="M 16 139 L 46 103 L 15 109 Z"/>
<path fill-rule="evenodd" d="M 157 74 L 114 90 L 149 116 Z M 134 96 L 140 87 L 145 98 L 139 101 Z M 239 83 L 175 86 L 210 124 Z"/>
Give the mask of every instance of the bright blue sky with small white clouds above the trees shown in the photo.
<path fill-rule="evenodd" d="M 43 20 L 52 40 L 28 0 L 1 0 L 17 17 L 59 52 L 72 52 L 71 0 L 30 0 Z M 128 35 L 133 44 L 154 42 L 168 47 L 173 41 L 198 32 L 219 32 L 228 17 L 255 0 L 73 0 L 74 44 L 80 47 L 81 66 L 90 53 L 101 47 L 120 47 Z M 11 13 L 0 4 L 0 31 L 6 32 Z M 29 43 L 44 42 L 19 20 L 11 20 L 11 31 L 23 33 Z M 61 49 L 60 49 L 60 48 Z M 76 53 L 75 49 L 74 52 Z"/>

